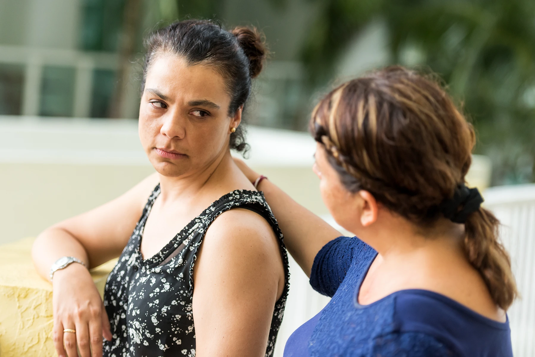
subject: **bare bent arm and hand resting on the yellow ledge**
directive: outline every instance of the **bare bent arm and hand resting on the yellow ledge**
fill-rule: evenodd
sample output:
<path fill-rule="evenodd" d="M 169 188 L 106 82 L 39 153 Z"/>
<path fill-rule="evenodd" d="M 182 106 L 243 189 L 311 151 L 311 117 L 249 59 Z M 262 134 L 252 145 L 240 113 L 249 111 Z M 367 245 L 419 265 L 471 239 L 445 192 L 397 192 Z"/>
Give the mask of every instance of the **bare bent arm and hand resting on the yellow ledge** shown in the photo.
<path fill-rule="evenodd" d="M 157 181 L 152 175 L 119 198 L 43 231 L 32 248 L 37 272 L 50 279 L 51 265 L 62 256 L 77 257 L 90 268 L 119 256 Z M 58 355 L 78 356 L 78 346 L 81 357 L 101 357 L 102 337 L 110 340 L 112 336 L 89 271 L 81 264 L 70 264 L 55 272 L 52 288 L 53 340 Z"/>

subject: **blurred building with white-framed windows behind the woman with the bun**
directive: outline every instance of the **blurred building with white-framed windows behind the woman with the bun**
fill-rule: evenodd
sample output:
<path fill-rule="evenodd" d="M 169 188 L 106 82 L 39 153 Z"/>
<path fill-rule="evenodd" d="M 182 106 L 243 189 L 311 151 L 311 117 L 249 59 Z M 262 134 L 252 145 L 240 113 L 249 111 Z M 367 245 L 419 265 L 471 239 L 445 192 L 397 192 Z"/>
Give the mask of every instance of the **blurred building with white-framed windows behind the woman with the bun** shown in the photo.
<path fill-rule="evenodd" d="M 226 25 L 261 28 L 273 51 L 255 87 L 251 124 L 302 130 L 309 108 L 296 59 L 314 6 L 218 6 Z M 180 11 L 175 0 L 0 0 L 0 115 L 136 118 L 142 37 L 165 19 L 183 18 Z"/>

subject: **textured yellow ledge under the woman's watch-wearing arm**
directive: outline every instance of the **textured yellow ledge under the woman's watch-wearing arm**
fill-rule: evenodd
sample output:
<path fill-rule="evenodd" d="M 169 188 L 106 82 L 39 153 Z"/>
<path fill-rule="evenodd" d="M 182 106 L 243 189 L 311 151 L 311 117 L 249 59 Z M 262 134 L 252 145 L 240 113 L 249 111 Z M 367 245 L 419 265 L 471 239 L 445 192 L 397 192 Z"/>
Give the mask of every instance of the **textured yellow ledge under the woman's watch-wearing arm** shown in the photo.
<path fill-rule="evenodd" d="M 0 246 L 0 356 L 52 357 L 52 285 L 35 271 L 33 239 Z M 101 295 L 115 261 L 91 271 Z"/>

